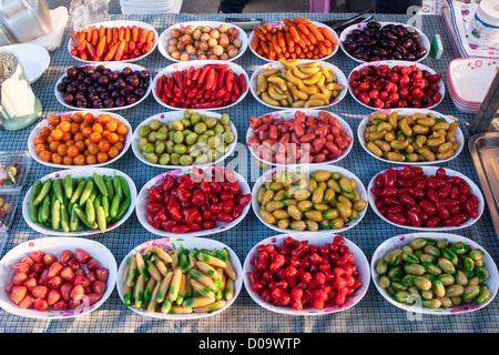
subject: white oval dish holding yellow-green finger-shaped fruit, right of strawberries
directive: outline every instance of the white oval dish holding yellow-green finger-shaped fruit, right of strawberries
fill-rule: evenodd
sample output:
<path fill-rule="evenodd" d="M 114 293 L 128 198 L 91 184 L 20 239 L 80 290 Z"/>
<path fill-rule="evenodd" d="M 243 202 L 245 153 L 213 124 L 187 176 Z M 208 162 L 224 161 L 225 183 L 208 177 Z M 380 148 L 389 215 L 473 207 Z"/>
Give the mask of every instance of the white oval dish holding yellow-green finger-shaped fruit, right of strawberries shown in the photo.
<path fill-rule="evenodd" d="M 143 252 L 144 250 L 146 250 L 147 247 L 152 247 L 152 246 L 159 246 L 159 247 L 163 247 L 166 250 L 179 250 L 180 247 L 184 247 L 189 251 L 192 251 L 194 248 L 197 250 L 210 250 L 213 251 L 215 248 L 217 248 L 218 251 L 222 251 L 224 248 L 227 248 L 228 254 L 231 255 L 231 262 L 234 266 L 234 271 L 236 272 L 237 275 L 237 280 L 234 282 L 234 297 L 231 301 L 227 301 L 225 306 L 221 310 L 216 310 L 216 311 L 212 311 L 212 312 L 203 312 L 203 313 L 189 313 L 189 314 L 171 314 L 171 313 L 162 313 L 160 311 L 156 311 L 154 313 L 149 313 L 146 310 L 138 310 L 135 307 L 129 307 L 129 310 L 143 315 L 145 317 L 151 317 L 151 318 L 157 318 L 157 320 L 170 320 L 170 321 L 175 321 L 175 320 L 197 320 L 197 318 L 204 318 L 204 317 L 210 317 L 212 315 L 216 315 L 220 314 L 222 312 L 224 312 L 225 310 L 227 310 L 237 298 L 237 296 L 240 295 L 241 288 L 243 287 L 243 267 L 241 265 L 241 261 L 237 257 L 237 255 L 234 253 L 234 251 L 232 248 L 230 248 L 227 245 L 215 241 L 215 240 L 211 240 L 211 239 L 205 239 L 205 237 L 184 237 L 181 235 L 177 236 L 172 236 L 172 237 L 164 237 L 164 239 L 159 239 L 159 240 L 152 240 L 145 243 L 142 243 L 141 245 L 135 246 L 122 261 L 120 268 L 118 270 L 118 275 L 120 275 L 118 277 L 118 282 L 116 282 L 116 287 L 118 287 L 118 293 L 120 295 L 121 301 L 123 301 L 123 272 L 124 268 L 126 266 L 126 261 L 129 260 L 130 256 L 135 255 L 135 253 L 138 252 Z M 123 301 L 124 303 L 124 301 Z"/>

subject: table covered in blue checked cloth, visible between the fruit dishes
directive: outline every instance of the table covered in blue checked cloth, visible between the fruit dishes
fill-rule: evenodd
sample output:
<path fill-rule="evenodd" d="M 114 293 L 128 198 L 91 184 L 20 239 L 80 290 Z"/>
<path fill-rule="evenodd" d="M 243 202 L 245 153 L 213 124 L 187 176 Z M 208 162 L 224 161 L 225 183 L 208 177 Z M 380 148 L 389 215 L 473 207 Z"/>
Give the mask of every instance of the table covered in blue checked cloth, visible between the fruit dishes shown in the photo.
<path fill-rule="evenodd" d="M 303 13 L 255 13 L 244 14 L 245 17 L 258 17 L 264 21 L 279 20 L 283 17 L 293 19 L 303 17 Z M 344 19 L 353 16 L 348 13 L 309 13 L 312 20 L 334 20 Z M 195 20 L 213 20 L 223 21 L 224 17 L 220 14 L 147 14 L 147 16 L 115 16 L 116 20 L 131 19 L 145 21 L 154 26 L 159 33 L 167 27 L 183 21 Z M 408 17 L 396 14 L 379 14 L 375 18 L 378 21 L 396 21 L 407 22 Z M 44 75 L 34 83 L 33 91 L 40 98 L 43 104 L 44 115 L 54 112 L 64 112 L 67 109 L 59 104 L 53 94 L 53 87 L 60 75 L 72 65 L 78 64 L 67 50 L 67 41 L 69 39 L 71 23 L 65 30 L 61 48 L 52 53 L 52 62 Z M 446 81 L 446 71 L 449 62 L 455 58 L 450 44 L 450 40 L 445 33 L 444 23 L 439 16 L 422 17 L 422 31 L 432 38 L 435 33 L 440 33 L 444 43 L 444 55 L 439 60 L 435 60 L 429 55 L 422 63 L 435 69 L 442 74 Z M 340 50 L 328 60 L 338 67 L 346 75 L 357 65 L 353 60 L 348 59 Z M 251 75 L 253 71 L 264 64 L 257 59 L 251 50 L 235 61 L 245 68 Z M 152 74 L 159 72 L 162 68 L 171 64 L 156 50 L 145 60 L 139 62 L 140 65 L 149 69 Z M 155 114 L 163 112 L 161 106 L 152 95 L 150 95 L 140 105 L 119 111 L 119 114 L 126 118 L 133 128 Z M 328 110 L 343 116 L 352 126 L 353 131 L 357 131 L 360 119 L 370 112 L 370 110 L 356 103 L 355 100 L 347 97 L 337 105 Z M 454 116 L 458 116 L 464 121 L 470 121 L 472 115 L 462 114 L 457 111 L 449 95 L 445 97 L 435 110 Z M 268 108 L 259 104 L 252 95 L 248 95 L 243 102 L 231 109 L 220 111 L 226 112 L 234 120 L 238 131 L 240 143 L 244 144 L 244 138 L 248 128 L 248 118 L 252 114 L 262 115 L 271 112 Z M 495 124 L 492 129 L 497 125 Z M 467 125 L 460 123 L 466 139 L 469 138 Z M 27 150 L 27 139 L 32 128 L 27 128 L 18 132 L 0 133 L 0 150 Z M 356 134 L 355 134 L 356 136 Z M 356 139 L 355 139 L 356 140 Z M 247 159 L 254 164 L 247 152 Z M 363 181 L 365 185 L 379 171 L 388 169 L 390 164 L 377 161 L 370 158 L 355 142 L 349 155 L 338 163 L 342 168 L 350 170 Z M 442 166 L 457 170 L 479 184 L 475 166 L 467 148 L 462 153 L 449 163 Z M 160 169 L 153 169 L 141 163 L 130 150 L 121 160 L 109 165 L 109 168 L 118 169 L 129 174 L 140 190 L 145 182 L 153 176 L 162 173 Z M 34 182 L 35 179 L 55 170 L 40 165 L 33 162 L 31 172 L 24 187 L 23 193 Z M 256 181 L 248 181 L 249 185 Z M 370 261 L 377 246 L 388 237 L 407 233 L 407 230 L 394 227 L 380 220 L 371 209 L 368 210 L 365 219 L 354 229 L 346 231 L 343 235 L 356 243 Z M 231 246 L 244 262 L 247 252 L 258 241 L 271 236 L 275 233 L 258 222 L 253 211 L 249 211 L 246 219 L 236 227 L 220 234 L 207 236 L 221 241 Z M 489 212 L 486 210 L 482 217 L 472 226 L 458 231 L 466 237 L 472 239 L 481 244 L 497 262 L 499 260 L 499 247 L 497 235 L 493 230 L 492 221 Z M 6 237 L 1 255 L 4 255 L 13 246 L 26 242 L 27 240 L 40 237 L 34 233 L 22 220 L 21 211 L 18 210 L 14 223 Z M 155 235 L 143 229 L 135 214 L 119 229 L 105 234 L 90 236 L 92 240 L 104 244 L 114 254 L 118 264 L 122 262 L 124 256 L 134 246 L 147 241 L 156 239 Z M 496 298 L 486 308 L 479 312 L 472 312 L 464 315 L 455 316 L 429 316 L 406 313 L 397 307 L 391 306 L 377 292 L 374 284 L 370 283 L 366 296 L 355 307 L 347 311 L 330 314 L 326 316 L 305 316 L 295 317 L 275 314 L 259 307 L 246 291 L 243 288 L 236 302 L 225 312 L 207 318 L 197 321 L 159 321 L 142 317 L 128 310 L 121 302 L 118 291 L 114 290 L 111 297 L 96 311 L 79 317 L 62 321 L 33 321 L 22 318 L 0 311 L 0 332 L 32 332 L 32 333 L 366 333 L 366 332 L 387 332 L 387 333 L 493 333 L 499 328 L 499 300 Z"/>

